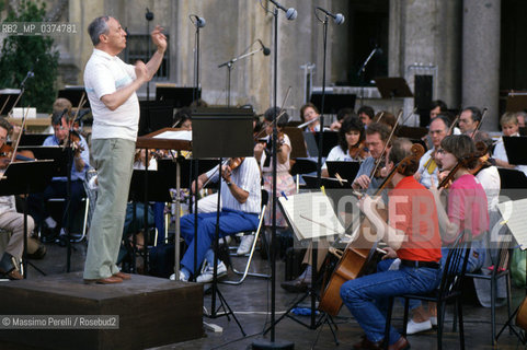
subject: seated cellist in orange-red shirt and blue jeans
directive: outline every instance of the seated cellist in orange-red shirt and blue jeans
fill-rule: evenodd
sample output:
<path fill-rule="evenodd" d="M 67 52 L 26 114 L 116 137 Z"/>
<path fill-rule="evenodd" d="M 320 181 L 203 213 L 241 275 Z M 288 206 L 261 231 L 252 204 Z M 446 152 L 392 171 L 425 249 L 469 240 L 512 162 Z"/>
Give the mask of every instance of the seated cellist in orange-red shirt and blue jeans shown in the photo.
<path fill-rule="evenodd" d="M 411 147 L 408 139 L 393 141 L 386 161 L 387 170 L 396 168 L 410 154 Z M 438 218 L 433 195 L 413 177 L 417 165 L 417 161 L 412 160 L 404 168 L 396 170 L 391 178 L 393 189 L 388 195 L 388 223 L 376 210 L 380 197 L 366 196 L 360 201 L 360 210 L 374 224 L 377 237 L 388 244 L 385 259 L 398 257 L 401 265 L 399 270 L 367 275 L 341 287 L 344 304 L 366 332 L 354 349 L 381 349 L 382 341 L 389 342 L 389 349 L 408 349 L 408 340 L 393 328 L 389 339 L 383 339 L 388 298 L 426 293 L 439 284 Z"/>

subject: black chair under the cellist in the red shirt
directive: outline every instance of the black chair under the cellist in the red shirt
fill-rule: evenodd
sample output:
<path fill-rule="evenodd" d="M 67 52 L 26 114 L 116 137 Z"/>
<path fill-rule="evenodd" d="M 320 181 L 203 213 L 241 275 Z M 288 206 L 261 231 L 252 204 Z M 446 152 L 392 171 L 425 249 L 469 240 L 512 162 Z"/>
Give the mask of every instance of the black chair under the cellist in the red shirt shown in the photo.
<path fill-rule="evenodd" d="M 449 301 L 455 301 L 456 312 L 459 318 L 459 341 L 461 349 L 465 349 L 465 331 L 463 331 L 463 318 L 461 306 L 461 291 L 465 280 L 465 273 L 467 271 L 467 262 L 469 259 L 471 242 L 466 242 L 466 232 L 461 232 L 456 238 L 456 242 L 451 245 L 445 266 L 443 267 L 443 277 L 438 289 L 427 294 L 404 294 L 398 295 L 404 298 L 404 318 L 403 318 L 403 331 L 402 336 L 406 337 L 406 324 L 408 324 L 408 311 L 410 299 L 416 299 L 421 301 L 434 302 L 437 304 L 437 349 L 443 348 L 443 326 L 445 322 L 445 306 Z M 385 339 L 389 339 L 391 314 L 393 307 L 393 298 L 389 300 L 389 306 L 386 317 Z M 388 349 L 388 341 L 385 342 L 385 348 Z"/>

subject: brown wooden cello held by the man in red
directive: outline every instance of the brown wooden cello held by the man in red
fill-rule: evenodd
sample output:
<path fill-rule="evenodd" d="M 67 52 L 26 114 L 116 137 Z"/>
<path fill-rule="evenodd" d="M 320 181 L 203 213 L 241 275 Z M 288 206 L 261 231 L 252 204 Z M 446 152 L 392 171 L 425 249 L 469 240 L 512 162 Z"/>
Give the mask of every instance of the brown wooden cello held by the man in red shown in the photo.
<path fill-rule="evenodd" d="M 393 167 L 374 196 L 379 196 L 381 194 L 386 186 L 391 182 L 396 172 L 404 172 L 404 168 L 412 164 L 412 162 L 419 162 L 424 154 L 424 148 L 421 144 L 415 143 L 412 145 L 411 152 L 412 154 L 405 156 L 396 167 Z M 388 212 L 386 210 L 378 210 L 378 212 L 382 219 L 387 221 Z M 320 311 L 323 311 L 331 316 L 336 316 L 339 314 L 339 311 L 342 307 L 342 299 L 340 295 L 342 284 L 364 275 L 369 268 L 369 262 L 376 260 L 379 249 L 377 247 L 378 241 L 371 240 L 371 237 L 375 236 L 375 226 L 367 218 L 365 218 L 360 223 L 360 226 L 354 232 L 352 241 L 347 244 L 344 253 L 341 255 L 341 259 L 335 267 L 326 288 L 321 294 L 319 303 Z M 335 255 L 339 256 L 340 253 L 336 253 Z"/>

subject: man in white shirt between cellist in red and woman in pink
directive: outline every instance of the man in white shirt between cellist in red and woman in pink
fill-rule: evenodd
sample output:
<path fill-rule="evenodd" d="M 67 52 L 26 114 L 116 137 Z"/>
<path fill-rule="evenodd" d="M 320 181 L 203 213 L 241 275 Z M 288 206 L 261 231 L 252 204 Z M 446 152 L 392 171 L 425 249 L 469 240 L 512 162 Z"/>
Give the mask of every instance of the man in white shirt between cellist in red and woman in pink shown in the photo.
<path fill-rule="evenodd" d="M 439 173 L 439 166 L 436 163 L 435 154 L 440 147 L 440 142 L 448 135 L 450 128 L 450 120 L 444 116 L 438 115 L 434 117 L 428 127 L 428 135 L 432 140 L 433 148 L 429 149 L 419 162 L 419 168 L 415 173 L 415 178 L 424 187 L 429 188 L 431 178 L 437 184 L 437 174 Z"/>

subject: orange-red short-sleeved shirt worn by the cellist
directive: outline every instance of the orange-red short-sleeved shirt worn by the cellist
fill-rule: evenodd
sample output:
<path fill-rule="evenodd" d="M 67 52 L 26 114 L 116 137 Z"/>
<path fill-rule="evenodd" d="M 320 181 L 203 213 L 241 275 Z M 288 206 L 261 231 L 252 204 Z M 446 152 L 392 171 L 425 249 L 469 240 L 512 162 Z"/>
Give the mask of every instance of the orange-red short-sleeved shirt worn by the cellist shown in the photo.
<path fill-rule="evenodd" d="M 439 261 L 442 238 L 434 197 L 429 190 L 406 176 L 388 194 L 389 225 L 405 233 L 397 250 L 400 259 Z"/>

